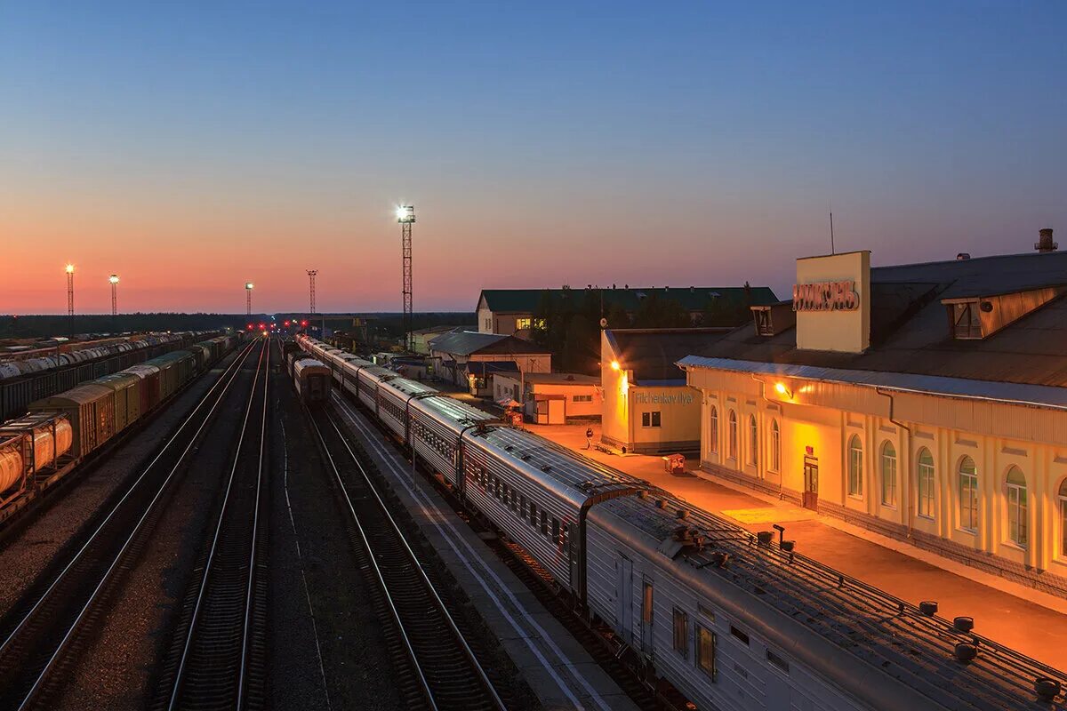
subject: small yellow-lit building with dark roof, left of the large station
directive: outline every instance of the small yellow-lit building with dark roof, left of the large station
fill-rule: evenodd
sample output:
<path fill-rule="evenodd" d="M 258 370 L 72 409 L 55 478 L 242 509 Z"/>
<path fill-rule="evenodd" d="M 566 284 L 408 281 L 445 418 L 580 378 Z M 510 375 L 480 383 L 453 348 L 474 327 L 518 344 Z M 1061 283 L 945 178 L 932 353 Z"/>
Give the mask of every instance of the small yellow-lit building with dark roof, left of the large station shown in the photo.
<path fill-rule="evenodd" d="M 601 332 L 601 440 L 622 452 L 700 449 L 700 391 L 678 361 L 729 328 L 615 328 Z"/>

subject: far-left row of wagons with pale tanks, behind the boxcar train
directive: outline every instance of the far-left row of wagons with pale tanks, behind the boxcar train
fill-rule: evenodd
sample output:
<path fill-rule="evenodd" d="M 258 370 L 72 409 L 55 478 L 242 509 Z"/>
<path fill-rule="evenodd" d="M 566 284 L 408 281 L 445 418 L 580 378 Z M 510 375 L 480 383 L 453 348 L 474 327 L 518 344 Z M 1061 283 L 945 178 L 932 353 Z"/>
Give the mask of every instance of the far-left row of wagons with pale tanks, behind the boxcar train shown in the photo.
<path fill-rule="evenodd" d="M 0 421 L 18 417 L 35 400 L 50 398 L 164 353 L 190 348 L 211 333 L 147 334 L 79 351 L 0 362 Z"/>

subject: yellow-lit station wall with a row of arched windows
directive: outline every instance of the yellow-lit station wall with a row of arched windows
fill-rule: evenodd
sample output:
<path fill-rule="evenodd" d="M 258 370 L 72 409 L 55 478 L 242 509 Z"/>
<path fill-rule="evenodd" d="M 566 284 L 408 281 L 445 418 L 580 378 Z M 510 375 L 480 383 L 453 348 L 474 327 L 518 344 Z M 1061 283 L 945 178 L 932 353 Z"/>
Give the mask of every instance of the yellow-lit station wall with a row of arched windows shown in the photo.
<path fill-rule="evenodd" d="M 762 383 L 761 383 L 762 379 Z M 1038 570 L 1067 576 L 1062 550 L 1058 488 L 1067 479 L 1067 414 L 1021 405 L 983 403 L 927 394 L 894 394 L 874 388 L 782 379 L 785 394 L 775 391 L 778 379 L 748 373 L 694 369 L 689 383 L 703 393 L 701 460 L 726 467 L 791 491 L 803 489 L 806 447 L 818 458 L 821 502 L 951 540 L 975 552 L 991 553 Z M 837 406 L 834 406 L 837 405 Z M 711 408 L 717 407 L 719 447 L 712 451 Z M 728 454 L 728 410 L 738 414 L 738 457 Z M 988 411 L 987 411 L 988 410 Z M 758 464 L 749 464 L 748 417 L 758 420 Z M 771 471 L 771 420 L 781 427 L 781 471 Z M 862 442 L 863 495 L 847 492 L 848 442 Z M 896 505 L 881 502 L 883 443 L 896 453 Z M 918 457 L 926 448 L 934 458 L 935 515 L 919 515 Z M 959 527 L 958 468 L 970 456 L 978 474 L 977 532 Z M 1010 540 L 1005 478 L 1017 466 L 1026 479 L 1028 545 Z"/>

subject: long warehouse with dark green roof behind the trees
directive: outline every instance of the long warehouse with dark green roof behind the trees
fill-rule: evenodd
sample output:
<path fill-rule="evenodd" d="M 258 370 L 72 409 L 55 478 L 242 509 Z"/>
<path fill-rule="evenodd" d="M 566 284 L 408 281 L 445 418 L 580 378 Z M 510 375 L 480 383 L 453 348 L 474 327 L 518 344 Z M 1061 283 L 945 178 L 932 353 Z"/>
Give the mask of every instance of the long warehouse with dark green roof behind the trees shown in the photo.
<path fill-rule="evenodd" d="M 601 301 L 601 312 L 607 313 L 614 307 L 622 308 L 633 319 L 641 302 L 655 294 L 663 301 L 678 302 L 689 312 L 694 324 L 703 318 L 715 323 L 704 325 L 734 325 L 736 314 L 747 316 L 750 306 L 774 304 L 778 301 L 767 287 L 650 287 L 617 289 L 588 287 L 585 290 L 571 289 L 483 289 L 476 307 L 478 332 L 482 334 L 504 334 L 528 337 L 537 325 L 537 312 L 543 300 L 554 302 L 557 307 L 570 301 L 577 305 L 587 293 Z"/>

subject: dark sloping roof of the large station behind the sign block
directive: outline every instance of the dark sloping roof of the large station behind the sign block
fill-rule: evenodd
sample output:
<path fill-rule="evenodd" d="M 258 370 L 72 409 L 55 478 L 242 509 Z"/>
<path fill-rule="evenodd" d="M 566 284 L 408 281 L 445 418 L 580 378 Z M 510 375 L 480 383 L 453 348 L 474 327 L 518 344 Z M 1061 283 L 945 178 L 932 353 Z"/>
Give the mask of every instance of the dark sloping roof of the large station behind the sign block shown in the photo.
<path fill-rule="evenodd" d="M 1061 293 L 996 333 L 953 337 L 943 300 L 1050 288 Z M 1061 252 L 878 266 L 871 270 L 871 346 L 863 353 L 799 350 L 795 325 L 759 336 L 748 323 L 687 355 L 1065 387 L 1065 293 Z"/>

